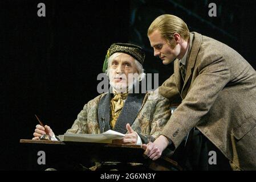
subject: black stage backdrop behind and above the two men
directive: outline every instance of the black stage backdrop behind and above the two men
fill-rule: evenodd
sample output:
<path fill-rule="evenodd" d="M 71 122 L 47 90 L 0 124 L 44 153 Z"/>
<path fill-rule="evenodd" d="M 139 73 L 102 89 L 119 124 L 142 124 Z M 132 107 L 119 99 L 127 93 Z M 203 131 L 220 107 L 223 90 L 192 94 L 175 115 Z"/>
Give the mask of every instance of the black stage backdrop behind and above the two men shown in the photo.
<path fill-rule="evenodd" d="M 38 3 L 46 17 L 38 17 Z M 209 3 L 217 17 L 209 17 Z M 30 139 L 37 114 L 55 134 L 63 134 L 96 86 L 108 47 L 136 43 L 146 50 L 145 72 L 173 65 L 154 58 L 147 28 L 157 16 L 174 14 L 197 31 L 237 50 L 254 68 L 255 1 L 0 1 L 1 158 L 0 169 L 31 169 L 19 139 Z M 34 162 L 34 161 L 33 161 Z M 35 161 L 36 163 L 36 161 Z"/>

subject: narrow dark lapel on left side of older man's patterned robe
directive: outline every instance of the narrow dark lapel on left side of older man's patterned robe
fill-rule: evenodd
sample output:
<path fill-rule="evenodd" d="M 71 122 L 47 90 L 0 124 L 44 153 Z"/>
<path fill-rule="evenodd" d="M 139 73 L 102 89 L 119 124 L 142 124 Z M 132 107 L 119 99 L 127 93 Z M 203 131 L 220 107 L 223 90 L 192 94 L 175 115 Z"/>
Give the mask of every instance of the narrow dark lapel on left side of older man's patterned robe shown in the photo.
<path fill-rule="evenodd" d="M 97 112 L 100 133 L 110 130 L 109 115 L 110 115 L 110 100 L 111 94 L 107 93 L 101 97 L 99 102 L 99 109 Z"/>

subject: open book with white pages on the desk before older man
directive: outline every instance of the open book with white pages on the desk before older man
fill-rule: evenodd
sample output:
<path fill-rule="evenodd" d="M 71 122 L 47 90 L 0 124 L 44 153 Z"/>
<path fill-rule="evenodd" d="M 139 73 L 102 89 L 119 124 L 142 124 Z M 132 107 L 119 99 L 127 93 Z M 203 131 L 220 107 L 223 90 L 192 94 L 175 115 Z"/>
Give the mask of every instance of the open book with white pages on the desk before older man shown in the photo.
<path fill-rule="evenodd" d="M 113 139 L 123 139 L 124 134 L 108 130 L 101 134 L 74 134 L 66 133 L 59 135 L 63 142 L 93 142 L 93 143 L 112 143 Z"/>

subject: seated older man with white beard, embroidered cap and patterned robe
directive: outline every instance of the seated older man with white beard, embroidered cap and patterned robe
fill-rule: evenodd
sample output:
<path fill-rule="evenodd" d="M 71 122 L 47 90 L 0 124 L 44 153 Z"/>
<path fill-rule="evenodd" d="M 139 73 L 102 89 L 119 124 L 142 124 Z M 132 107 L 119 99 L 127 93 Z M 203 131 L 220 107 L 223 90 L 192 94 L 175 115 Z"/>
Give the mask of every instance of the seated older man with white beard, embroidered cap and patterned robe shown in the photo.
<path fill-rule="evenodd" d="M 114 43 L 108 50 L 103 71 L 109 77 L 111 88 L 84 105 L 67 133 L 99 134 L 109 129 L 125 134 L 121 143 L 143 144 L 153 142 L 170 117 L 169 101 L 148 93 L 131 93 L 144 78 L 145 53 L 139 46 Z M 136 73 L 136 74 L 135 74 Z M 36 125 L 34 140 L 45 130 L 55 137 L 50 126 Z"/>

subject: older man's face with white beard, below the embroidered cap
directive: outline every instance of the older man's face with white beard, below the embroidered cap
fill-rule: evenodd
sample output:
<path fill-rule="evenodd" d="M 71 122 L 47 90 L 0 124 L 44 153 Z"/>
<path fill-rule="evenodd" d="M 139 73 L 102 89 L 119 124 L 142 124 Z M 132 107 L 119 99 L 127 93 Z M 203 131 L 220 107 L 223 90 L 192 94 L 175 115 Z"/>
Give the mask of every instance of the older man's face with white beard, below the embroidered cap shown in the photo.
<path fill-rule="evenodd" d="M 125 92 L 133 84 L 134 73 L 138 73 L 135 60 L 126 53 L 118 53 L 109 66 L 109 82 L 118 91 Z"/>

